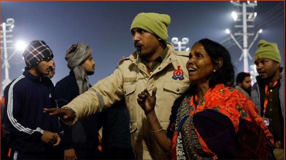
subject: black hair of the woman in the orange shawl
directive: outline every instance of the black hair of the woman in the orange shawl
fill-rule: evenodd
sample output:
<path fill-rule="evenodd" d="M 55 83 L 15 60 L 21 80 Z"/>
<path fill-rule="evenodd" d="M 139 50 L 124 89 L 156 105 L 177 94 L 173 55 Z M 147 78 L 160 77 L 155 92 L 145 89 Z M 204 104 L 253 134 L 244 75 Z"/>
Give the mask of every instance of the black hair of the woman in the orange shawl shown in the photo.
<path fill-rule="evenodd" d="M 206 38 L 199 40 L 194 45 L 198 43 L 203 45 L 203 48 L 211 57 L 212 64 L 214 66 L 218 66 L 216 63 L 218 58 L 222 58 L 223 60 L 221 68 L 212 73 L 212 76 L 209 80 L 209 87 L 213 88 L 217 84 L 232 86 L 234 83 L 234 66 L 231 63 L 231 56 L 227 49 L 221 44 Z"/>

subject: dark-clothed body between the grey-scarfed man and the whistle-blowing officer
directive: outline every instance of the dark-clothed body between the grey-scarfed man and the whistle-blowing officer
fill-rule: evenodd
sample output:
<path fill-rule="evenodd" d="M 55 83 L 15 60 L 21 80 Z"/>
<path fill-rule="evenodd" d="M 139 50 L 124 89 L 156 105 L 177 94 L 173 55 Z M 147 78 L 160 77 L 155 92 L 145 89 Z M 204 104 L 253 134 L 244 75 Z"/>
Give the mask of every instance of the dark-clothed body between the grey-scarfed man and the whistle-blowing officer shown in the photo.
<path fill-rule="evenodd" d="M 103 110 L 101 114 L 103 158 L 135 159 L 125 99 Z"/>

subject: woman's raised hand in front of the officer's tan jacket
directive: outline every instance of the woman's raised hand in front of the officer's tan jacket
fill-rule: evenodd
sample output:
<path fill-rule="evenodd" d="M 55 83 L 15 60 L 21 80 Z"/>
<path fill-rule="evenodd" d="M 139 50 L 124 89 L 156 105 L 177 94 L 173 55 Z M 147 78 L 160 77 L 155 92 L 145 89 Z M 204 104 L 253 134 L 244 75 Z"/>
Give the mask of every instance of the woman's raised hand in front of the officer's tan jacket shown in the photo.
<path fill-rule="evenodd" d="M 152 96 L 149 94 L 147 89 L 144 89 L 141 94 L 138 94 L 137 102 L 144 110 L 145 115 L 154 110 L 156 104 L 156 91 L 157 88 L 152 90 Z"/>

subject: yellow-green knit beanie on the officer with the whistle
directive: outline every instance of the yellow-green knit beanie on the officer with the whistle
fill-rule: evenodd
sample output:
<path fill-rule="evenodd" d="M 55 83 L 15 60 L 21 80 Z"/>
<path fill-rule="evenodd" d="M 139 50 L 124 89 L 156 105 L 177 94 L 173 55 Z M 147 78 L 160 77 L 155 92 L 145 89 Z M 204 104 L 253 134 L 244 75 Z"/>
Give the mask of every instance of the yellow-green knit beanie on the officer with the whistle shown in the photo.
<path fill-rule="evenodd" d="M 139 13 L 132 21 L 130 31 L 134 28 L 141 28 L 147 32 L 157 35 L 165 43 L 169 38 L 168 26 L 171 18 L 166 14 L 159 13 Z"/>

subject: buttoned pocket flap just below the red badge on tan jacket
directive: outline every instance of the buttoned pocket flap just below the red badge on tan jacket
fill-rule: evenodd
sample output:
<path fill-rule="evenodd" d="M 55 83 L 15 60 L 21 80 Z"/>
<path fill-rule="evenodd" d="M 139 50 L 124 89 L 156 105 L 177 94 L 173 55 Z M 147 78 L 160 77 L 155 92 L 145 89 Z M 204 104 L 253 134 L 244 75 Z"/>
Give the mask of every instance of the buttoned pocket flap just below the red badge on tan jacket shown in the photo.
<path fill-rule="evenodd" d="M 164 81 L 164 90 L 176 94 L 184 93 L 190 84 L 180 81 Z"/>

